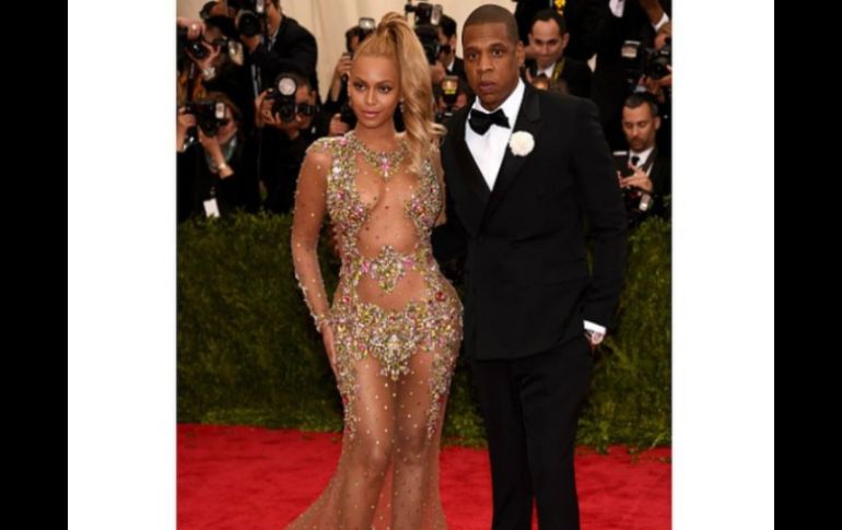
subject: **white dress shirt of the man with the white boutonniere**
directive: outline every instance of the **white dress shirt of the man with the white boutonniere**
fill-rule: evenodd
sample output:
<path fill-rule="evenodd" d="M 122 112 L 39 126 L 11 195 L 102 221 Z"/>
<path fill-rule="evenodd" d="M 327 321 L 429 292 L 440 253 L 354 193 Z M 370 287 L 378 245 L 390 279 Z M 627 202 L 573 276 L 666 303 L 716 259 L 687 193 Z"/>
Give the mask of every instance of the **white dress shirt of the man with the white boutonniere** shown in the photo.
<path fill-rule="evenodd" d="M 477 163 L 482 177 L 486 179 L 489 189 L 494 189 L 494 182 L 500 172 L 500 165 L 503 163 L 503 156 L 508 149 L 508 139 L 512 138 L 512 132 L 515 129 L 515 121 L 517 121 L 517 113 L 521 110 L 521 104 L 524 101 L 524 92 L 526 85 L 522 80 L 517 81 L 517 87 L 508 95 L 505 102 L 499 107 L 503 110 L 503 114 L 508 119 L 508 128 L 500 127 L 499 125 L 492 125 L 491 128 L 486 131 L 484 134 L 477 134 L 469 123 L 465 123 L 465 143 L 468 144 L 468 150 L 473 156 L 473 161 Z M 471 113 L 477 109 L 481 113 L 490 114 L 491 110 L 482 106 L 477 97 L 471 106 Z M 494 109 L 496 110 L 496 109 Z"/>

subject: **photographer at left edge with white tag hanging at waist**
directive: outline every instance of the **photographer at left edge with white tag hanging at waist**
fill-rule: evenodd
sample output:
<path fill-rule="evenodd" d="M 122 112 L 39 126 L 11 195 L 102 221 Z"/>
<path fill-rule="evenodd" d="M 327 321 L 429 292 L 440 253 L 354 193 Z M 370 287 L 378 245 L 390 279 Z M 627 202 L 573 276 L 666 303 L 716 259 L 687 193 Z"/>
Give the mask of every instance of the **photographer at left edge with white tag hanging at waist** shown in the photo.
<path fill-rule="evenodd" d="M 209 93 L 178 109 L 176 126 L 177 219 L 220 216 L 259 204 L 253 144 L 241 132 L 232 101 Z"/>

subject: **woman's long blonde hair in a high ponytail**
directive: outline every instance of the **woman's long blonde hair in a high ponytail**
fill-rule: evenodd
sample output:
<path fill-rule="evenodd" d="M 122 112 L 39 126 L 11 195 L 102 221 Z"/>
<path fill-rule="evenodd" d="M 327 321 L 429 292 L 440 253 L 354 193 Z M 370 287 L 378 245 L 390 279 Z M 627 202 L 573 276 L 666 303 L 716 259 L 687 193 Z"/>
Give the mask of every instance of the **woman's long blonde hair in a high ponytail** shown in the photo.
<path fill-rule="evenodd" d="M 387 57 L 398 64 L 409 168 L 420 175 L 433 142 L 444 134 L 444 127 L 434 121 L 433 82 L 424 48 L 404 16 L 391 12 L 354 54 L 354 58 L 362 56 Z"/>

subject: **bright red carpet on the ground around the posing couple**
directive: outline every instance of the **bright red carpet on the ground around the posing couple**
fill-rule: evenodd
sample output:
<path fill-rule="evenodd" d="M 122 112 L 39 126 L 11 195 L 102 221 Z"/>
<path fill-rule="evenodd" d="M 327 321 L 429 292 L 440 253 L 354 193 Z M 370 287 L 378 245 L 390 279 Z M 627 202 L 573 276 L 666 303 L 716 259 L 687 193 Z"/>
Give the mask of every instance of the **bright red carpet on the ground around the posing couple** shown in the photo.
<path fill-rule="evenodd" d="M 179 530 L 278 529 L 325 487 L 339 459 L 338 434 L 257 427 L 178 426 Z M 583 530 L 670 528 L 669 448 L 633 458 L 576 457 Z M 442 503 L 452 530 L 491 526 L 488 455 L 442 451 Z"/>

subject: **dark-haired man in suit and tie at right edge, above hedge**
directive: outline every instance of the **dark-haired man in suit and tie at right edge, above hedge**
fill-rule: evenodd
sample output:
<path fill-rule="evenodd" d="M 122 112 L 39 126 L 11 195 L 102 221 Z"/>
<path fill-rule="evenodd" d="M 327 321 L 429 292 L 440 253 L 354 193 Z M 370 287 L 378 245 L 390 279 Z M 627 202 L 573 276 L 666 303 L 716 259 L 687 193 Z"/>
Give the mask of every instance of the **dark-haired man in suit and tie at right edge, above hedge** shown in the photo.
<path fill-rule="evenodd" d="M 667 215 L 664 197 L 670 193 L 668 156 L 656 145 L 660 129 L 658 107 L 651 97 L 632 94 L 622 107 L 622 130 L 629 151 L 616 151 L 617 178 L 625 198 L 629 224 L 650 214 Z"/>

